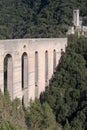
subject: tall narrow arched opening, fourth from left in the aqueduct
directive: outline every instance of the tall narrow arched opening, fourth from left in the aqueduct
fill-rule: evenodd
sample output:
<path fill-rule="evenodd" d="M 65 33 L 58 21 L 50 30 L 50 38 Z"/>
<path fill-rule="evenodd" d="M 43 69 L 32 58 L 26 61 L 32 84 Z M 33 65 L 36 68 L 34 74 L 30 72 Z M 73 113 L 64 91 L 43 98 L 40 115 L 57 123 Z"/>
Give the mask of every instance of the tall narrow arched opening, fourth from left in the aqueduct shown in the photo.
<path fill-rule="evenodd" d="M 48 86 L 48 51 L 45 51 L 45 83 Z"/>

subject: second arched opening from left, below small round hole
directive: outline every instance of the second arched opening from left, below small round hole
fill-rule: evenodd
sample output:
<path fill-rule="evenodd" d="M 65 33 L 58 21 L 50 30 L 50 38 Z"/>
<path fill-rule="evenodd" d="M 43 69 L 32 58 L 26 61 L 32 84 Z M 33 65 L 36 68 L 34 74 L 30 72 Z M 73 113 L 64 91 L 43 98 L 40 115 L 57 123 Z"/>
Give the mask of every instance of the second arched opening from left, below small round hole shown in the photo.
<path fill-rule="evenodd" d="M 22 89 L 28 87 L 28 56 L 24 52 L 22 55 Z"/>

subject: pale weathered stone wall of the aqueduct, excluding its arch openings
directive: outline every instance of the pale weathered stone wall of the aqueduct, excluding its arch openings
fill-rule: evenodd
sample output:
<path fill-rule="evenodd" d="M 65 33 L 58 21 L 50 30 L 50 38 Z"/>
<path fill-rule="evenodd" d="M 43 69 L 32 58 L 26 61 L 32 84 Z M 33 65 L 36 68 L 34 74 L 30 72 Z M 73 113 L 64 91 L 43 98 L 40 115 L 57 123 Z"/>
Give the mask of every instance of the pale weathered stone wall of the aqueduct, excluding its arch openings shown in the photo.
<path fill-rule="evenodd" d="M 15 39 L 0 40 L 0 89 L 4 93 L 4 58 L 7 54 L 12 57 L 12 78 L 9 84 L 13 85 L 10 91 L 11 99 L 16 97 L 24 100 L 26 105 L 30 99 L 35 99 L 35 90 L 40 93 L 45 90 L 45 52 L 48 52 L 48 79 L 53 74 L 53 53 L 56 52 L 56 65 L 61 57 L 61 49 L 65 51 L 67 46 L 67 38 L 39 38 L 39 39 Z M 28 86 L 22 88 L 22 55 L 27 54 L 25 62 L 25 72 L 28 71 Z M 35 52 L 38 52 L 38 85 L 35 86 Z M 26 65 L 27 63 L 27 65 Z M 26 70 L 26 66 L 27 70 Z M 10 68 L 10 67 L 9 67 Z M 11 71 L 9 70 L 9 73 Z M 24 72 L 24 75 L 26 75 Z M 9 74 L 11 76 L 11 74 Z M 11 81 L 10 81 L 11 80 Z M 13 82 L 13 83 L 12 83 Z M 48 83 L 49 84 L 49 83 Z M 8 87 L 9 88 L 9 87 Z M 12 94 L 11 94 L 12 92 Z"/>

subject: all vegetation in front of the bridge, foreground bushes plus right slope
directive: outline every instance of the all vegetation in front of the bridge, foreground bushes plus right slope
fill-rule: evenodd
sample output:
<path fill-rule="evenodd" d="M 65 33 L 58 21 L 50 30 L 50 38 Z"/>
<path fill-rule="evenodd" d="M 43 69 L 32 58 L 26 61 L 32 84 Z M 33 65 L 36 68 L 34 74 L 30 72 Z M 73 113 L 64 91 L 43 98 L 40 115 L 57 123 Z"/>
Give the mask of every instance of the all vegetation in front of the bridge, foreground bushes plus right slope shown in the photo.
<path fill-rule="evenodd" d="M 50 86 L 27 109 L 1 97 L 1 130 L 87 130 L 87 38 L 69 37 Z"/>

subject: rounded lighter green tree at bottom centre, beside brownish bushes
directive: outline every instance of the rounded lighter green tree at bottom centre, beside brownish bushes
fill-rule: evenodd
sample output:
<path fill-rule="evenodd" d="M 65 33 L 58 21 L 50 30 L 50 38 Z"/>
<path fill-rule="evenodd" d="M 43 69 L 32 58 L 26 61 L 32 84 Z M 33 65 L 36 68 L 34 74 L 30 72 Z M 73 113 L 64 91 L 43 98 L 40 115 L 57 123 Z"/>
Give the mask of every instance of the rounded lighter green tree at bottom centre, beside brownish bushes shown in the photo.
<path fill-rule="evenodd" d="M 26 113 L 27 123 L 34 130 L 58 130 L 55 116 L 47 103 L 31 102 Z"/>

